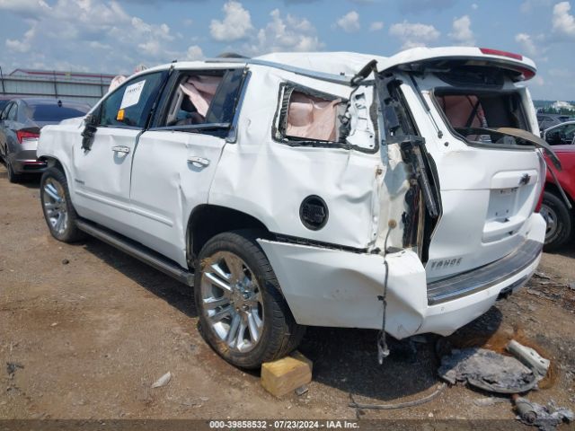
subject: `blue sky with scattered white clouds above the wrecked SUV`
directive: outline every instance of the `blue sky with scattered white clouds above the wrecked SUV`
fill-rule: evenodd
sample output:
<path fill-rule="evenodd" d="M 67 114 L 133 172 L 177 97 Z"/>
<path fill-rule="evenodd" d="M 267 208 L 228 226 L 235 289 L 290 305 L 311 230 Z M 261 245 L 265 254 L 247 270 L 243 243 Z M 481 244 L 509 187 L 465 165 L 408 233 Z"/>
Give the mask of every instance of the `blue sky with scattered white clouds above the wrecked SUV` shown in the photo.
<path fill-rule="evenodd" d="M 0 0 L 0 66 L 129 73 L 224 51 L 475 45 L 535 60 L 537 99 L 575 100 L 575 0 Z"/>

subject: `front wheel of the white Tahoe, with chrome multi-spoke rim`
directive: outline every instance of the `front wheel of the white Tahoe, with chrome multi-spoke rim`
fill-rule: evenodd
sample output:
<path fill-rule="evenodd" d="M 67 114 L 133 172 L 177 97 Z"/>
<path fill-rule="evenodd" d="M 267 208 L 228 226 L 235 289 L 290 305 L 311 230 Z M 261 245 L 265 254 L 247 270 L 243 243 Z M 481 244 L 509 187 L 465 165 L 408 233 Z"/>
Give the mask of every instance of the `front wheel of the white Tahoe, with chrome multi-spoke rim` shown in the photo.
<path fill-rule="evenodd" d="M 76 242 L 84 238 L 75 221 L 75 212 L 66 175 L 55 167 L 48 168 L 40 179 L 40 201 L 50 233 L 61 242 Z"/>

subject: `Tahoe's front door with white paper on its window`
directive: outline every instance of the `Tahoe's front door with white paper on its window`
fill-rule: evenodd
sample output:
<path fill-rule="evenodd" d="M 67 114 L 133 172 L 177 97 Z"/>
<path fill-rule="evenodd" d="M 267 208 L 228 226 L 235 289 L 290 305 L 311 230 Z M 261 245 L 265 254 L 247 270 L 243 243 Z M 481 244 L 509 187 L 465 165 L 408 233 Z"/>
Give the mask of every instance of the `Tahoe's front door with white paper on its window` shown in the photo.
<path fill-rule="evenodd" d="M 137 75 L 111 92 L 93 111 L 96 131 L 89 148 L 78 140 L 73 149 L 76 210 L 127 236 L 132 157 L 167 73 Z"/>

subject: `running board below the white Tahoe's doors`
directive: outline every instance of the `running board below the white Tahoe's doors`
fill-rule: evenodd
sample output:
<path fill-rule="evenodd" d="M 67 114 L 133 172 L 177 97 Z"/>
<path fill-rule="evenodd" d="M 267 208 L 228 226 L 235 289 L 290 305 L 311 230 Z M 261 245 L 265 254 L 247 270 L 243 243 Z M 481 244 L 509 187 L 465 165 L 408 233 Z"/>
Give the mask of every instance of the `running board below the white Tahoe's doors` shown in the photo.
<path fill-rule="evenodd" d="M 131 241 L 119 233 L 114 233 L 109 229 L 90 223 L 86 220 L 76 220 L 75 224 L 81 231 L 116 247 L 120 251 L 124 251 L 133 258 L 147 263 L 150 267 L 164 272 L 164 274 L 175 278 L 184 285 L 190 287 L 194 286 L 194 274 L 192 272 L 181 268 L 177 263 L 164 258 L 161 254 L 148 249 L 144 245 Z"/>

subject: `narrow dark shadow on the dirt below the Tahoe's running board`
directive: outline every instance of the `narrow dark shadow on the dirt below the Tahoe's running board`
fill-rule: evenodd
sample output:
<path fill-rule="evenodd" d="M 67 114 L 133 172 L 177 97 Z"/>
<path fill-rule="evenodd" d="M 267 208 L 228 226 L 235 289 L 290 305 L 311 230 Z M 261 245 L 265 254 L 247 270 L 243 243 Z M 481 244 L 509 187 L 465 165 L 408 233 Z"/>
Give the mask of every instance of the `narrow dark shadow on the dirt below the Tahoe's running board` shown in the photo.
<path fill-rule="evenodd" d="M 84 249 L 150 293 L 164 299 L 166 303 L 183 312 L 186 316 L 198 317 L 193 301 L 192 287 L 181 284 L 157 269 L 149 267 L 146 263 L 95 238 L 86 240 Z"/>

